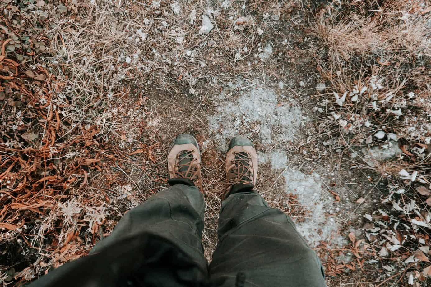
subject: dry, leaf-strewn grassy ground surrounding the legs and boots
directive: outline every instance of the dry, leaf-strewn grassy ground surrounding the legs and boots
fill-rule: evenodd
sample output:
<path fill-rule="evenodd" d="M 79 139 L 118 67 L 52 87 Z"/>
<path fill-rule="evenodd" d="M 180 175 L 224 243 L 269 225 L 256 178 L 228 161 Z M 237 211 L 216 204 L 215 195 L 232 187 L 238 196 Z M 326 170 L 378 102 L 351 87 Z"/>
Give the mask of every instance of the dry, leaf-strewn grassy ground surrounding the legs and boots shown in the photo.
<path fill-rule="evenodd" d="M 180 133 L 200 145 L 209 261 L 217 245 L 225 151 L 240 135 L 258 152 L 256 188 L 292 217 L 319 253 L 328 286 L 427 286 L 431 4 L 399 2 L 3 1 L 2 286 L 19 286 L 85 256 L 127 210 L 167 188 L 166 156 Z M 316 31 L 323 34 L 321 15 L 327 39 L 337 27 L 351 27 L 345 19 L 363 28 L 360 21 L 378 18 L 374 9 L 384 17 L 385 9 L 399 19 L 408 15 L 412 20 L 400 21 L 416 25 L 409 37 L 421 40 L 406 41 L 417 50 L 402 49 L 414 60 L 403 56 L 407 60 L 398 60 L 399 69 L 384 79 L 403 79 L 408 71 L 403 86 L 391 89 L 420 104 L 408 102 L 400 108 L 406 117 L 392 120 L 387 115 L 402 106 L 396 102 L 386 115 L 376 112 L 384 120 L 373 114 L 373 130 L 370 116 L 358 126 L 369 130 L 356 133 L 350 120 L 360 112 L 344 117 L 341 109 L 355 105 L 354 95 L 365 91 L 361 77 L 373 81 L 376 63 L 364 64 L 362 74 L 362 64 L 352 64 L 328 76 L 336 62 L 328 55 L 341 48 L 331 48 Z M 382 21 L 376 35 L 391 25 Z M 360 62 L 358 55 L 378 45 L 374 39 L 355 54 L 359 44 L 345 41 L 352 46 L 337 54 L 343 65 Z M 345 51 L 353 55 L 344 59 Z M 376 64 L 377 74 L 397 61 L 378 55 L 375 61 L 384 65 Z M 348 71 L 356 70 L 359 76 L 350 78 Z M 360 93 L 346 100 L 355 85 Z M 364 106 L 357 110 L 375 108 Z M 409 137 L 412 130 L 404 126 L 413 122 L 420 133 Z M 414 143 L 423 156 L 413 152 Z M 410 209 L 408 200 L 414 200 Z"/>

